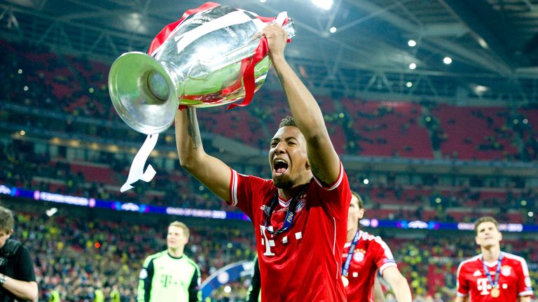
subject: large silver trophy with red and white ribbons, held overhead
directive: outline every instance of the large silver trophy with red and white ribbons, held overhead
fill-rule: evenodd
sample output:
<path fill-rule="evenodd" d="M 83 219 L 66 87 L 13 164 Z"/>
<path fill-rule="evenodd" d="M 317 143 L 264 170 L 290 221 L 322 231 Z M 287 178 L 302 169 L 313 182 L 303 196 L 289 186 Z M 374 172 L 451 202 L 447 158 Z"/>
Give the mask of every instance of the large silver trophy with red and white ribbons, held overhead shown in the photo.
<path fill-rule="evenodd" d="M 127 52 L 113 62 L 109 73 L 113 106 L 132 129 L 149 135 L 121 192 L 137 180 L 153 178 L 151 165 L 143 172 L 145 161 L 158 134 L 174 122 L 178 108 L 248 105 L 270 67 L 267 42 L 259 33 L 272 22 L 282 24 L 288 38 L 295 35 L 286 13 L 259 17 L 207 2 L 160 31 L 149 55 Z"/>

